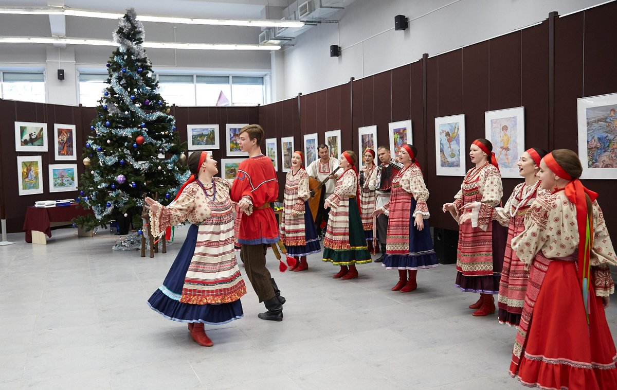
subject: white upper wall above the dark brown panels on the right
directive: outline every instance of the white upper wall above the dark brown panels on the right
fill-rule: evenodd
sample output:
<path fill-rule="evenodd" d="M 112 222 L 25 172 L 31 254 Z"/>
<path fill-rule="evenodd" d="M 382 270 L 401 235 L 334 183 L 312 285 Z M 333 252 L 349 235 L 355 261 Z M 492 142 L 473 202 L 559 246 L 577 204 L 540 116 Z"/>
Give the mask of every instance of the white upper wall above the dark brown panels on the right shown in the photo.
<path fill-rule="evenodd" d="M 284 96 L 311 93 L 415 62 L 547 19 L 601 4 L 604 0 L 355 0 L 284 51 Z M 395 15 L 410 20 L 394 30 Z M 330 57 L 331 44 L 341 57 Z M 274 77 L 274 76 L 273 76 Z"/>

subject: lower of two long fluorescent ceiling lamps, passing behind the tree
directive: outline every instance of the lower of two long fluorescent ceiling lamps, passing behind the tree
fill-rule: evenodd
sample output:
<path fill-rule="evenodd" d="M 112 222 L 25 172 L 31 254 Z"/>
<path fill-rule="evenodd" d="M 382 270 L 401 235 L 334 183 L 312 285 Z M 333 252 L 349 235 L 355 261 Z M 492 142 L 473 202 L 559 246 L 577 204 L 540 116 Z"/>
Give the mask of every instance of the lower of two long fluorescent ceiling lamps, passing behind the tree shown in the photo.
<path fill-rule="evenodd" d="M 52 38 L 28 36 L 0 37 L 0 43 L 65 43 L 86 44 L 91 46 L 118 46 L 114 41 L 107 39 L 85 38 Z M 226 43 L 175 43 L 175 42 L 144 42 L 144 48 L 152 49 L 188 49 L 188 50 L 279 50 L 276 44 L 226 44 Z"/>

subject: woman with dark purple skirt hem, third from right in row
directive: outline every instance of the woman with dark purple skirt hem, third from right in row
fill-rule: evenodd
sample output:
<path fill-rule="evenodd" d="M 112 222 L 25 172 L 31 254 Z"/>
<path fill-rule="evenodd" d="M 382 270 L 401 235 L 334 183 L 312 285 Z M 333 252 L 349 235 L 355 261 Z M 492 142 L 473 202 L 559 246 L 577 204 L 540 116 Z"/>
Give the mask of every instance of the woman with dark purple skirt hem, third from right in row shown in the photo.
<path fill-rule="evenodd" d="M 473 312 L 474 316 L 495 312 L 492 294 L 499 292 L 507 238 L 507 230 L 497 221 L 473 226 L 469 218 L 461 220 L 463 214 L 470 212 L 463 207 L 470 202 L 478 201 L 492 207 L 501 202 L 502 181 L 492 148 L 488 139 L 473 141 L 469 155 L 476 166 L 467 171 L 454 202 L 443 207 L 443 211 L 449 211 L 459 223 L 456 286 L 465 292 L 480 293 L 478 302 L 470 305 L 470 309 L 478 309 Z"/>

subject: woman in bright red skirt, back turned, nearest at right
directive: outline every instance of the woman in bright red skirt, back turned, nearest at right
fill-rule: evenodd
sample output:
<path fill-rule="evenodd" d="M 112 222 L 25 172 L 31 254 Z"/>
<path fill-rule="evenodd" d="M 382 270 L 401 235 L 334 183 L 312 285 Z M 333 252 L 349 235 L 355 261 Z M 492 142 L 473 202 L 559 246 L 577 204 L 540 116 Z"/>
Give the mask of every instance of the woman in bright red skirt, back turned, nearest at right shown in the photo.
<path fill-rule="evenodd" d="M 536 197 L 512 249 L 530 266 L 510 375 L 541 389 L 617 389 L 617 352 L 604 307 L 617 265 L 598 194 L 578 178 L 578 156 L 558 149 L 540 162 L 548 195 Z M 604 306 L 604 307 L 603 307 Z"/>

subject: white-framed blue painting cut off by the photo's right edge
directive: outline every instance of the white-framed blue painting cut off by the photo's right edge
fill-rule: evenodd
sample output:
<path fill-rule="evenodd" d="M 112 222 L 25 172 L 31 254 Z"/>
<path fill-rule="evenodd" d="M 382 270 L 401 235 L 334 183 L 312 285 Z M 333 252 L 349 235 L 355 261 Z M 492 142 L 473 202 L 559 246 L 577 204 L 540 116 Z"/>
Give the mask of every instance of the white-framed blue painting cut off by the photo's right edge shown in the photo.
<path fill-rule="evenodd" d="M 617 93 L 580 98 L 579 158 L 586 179 L 617 179 Z"/>

